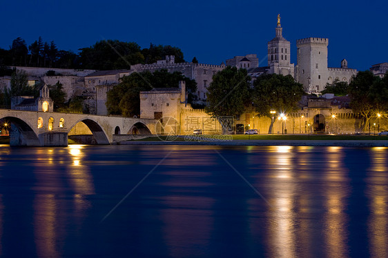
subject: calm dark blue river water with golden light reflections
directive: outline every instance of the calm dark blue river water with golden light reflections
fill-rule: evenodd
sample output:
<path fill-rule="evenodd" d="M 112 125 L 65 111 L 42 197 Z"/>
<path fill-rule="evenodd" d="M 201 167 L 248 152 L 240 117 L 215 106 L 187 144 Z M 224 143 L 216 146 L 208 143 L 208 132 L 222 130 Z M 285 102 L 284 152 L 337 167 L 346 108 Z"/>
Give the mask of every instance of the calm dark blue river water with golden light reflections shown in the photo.
<path fill-rule="evenodd" d="M 0 257 L 388 257 L 388 148 L 0 146 Z"/>

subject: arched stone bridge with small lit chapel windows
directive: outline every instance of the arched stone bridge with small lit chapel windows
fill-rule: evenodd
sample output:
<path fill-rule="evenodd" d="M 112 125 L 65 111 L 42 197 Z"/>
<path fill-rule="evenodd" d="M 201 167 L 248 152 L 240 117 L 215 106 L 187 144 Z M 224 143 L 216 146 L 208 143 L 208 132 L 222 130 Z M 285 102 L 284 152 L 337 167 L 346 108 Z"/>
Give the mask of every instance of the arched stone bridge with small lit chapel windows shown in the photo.
<path fill-rule="evenodd" d="M 59 112 L 0 109 L 0 119 L 11 124 L 11 146 L 67 146 L 68 133 L 83 122 L 97 144 L 110 144 L 113 135 L 155 134 L 155 119 L 110 117 Z"/>

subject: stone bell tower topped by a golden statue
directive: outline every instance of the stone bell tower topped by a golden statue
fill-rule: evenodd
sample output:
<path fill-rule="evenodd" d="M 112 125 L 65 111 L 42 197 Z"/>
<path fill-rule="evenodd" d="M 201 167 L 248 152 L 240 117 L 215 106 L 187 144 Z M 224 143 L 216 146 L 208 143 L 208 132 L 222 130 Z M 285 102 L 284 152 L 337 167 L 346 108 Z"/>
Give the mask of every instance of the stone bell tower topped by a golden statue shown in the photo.
<path fill-rule="evenodd" d="M 280 24 L 280 14 L 278 15 L 278 26 L 275 28 L 275 30 L 275 38 L 268 42 L 269 73 L 275 73 L 278 75 L 291 75 L 293 77 L 293 63 L 290 63 L 290 41 L 284 39 L 282 35 L 283 28 Z"/>

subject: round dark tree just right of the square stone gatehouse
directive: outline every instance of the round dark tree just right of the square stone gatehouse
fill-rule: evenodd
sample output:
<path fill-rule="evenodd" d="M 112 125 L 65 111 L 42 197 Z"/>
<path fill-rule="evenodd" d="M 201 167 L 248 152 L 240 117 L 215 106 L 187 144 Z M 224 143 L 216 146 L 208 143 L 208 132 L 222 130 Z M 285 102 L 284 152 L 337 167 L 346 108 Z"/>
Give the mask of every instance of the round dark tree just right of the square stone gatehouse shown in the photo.
<path fill-rule="evenodd" d="M 245 69 L 228 66 L 213 76 L 205 111 L 213 117 L 241 115 L 251 105 L 251 77 Z"/>

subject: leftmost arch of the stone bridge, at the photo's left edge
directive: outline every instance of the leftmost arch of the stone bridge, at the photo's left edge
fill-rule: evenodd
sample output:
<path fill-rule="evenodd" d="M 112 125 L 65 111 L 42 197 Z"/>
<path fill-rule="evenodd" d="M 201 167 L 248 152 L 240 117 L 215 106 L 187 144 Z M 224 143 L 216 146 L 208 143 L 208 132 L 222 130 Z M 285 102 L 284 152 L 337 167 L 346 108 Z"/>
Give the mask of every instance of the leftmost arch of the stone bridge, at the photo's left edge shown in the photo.
<path fill-rule="evenodd" d="M 19 132 L 14 129 L 10 132 L 11 146 L 40 146 L 39 137 L 28 122 L 18 117 L 0 117 L 11 123 Z M 11 128 L 12 129 L 12 128 Z"/>

